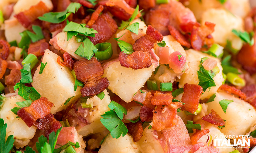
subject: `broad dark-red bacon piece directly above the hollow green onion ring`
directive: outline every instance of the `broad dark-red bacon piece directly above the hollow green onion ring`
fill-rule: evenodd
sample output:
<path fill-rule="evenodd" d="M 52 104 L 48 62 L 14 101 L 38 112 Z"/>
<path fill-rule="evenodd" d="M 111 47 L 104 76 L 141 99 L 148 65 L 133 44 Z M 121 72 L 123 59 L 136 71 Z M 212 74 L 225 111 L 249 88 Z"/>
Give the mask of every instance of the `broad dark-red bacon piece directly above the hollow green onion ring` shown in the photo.
<path fill-rule="evenodd" d="M 98 32 L 95 33 L 95 37 L 88 37 L 95 45 L 110 39 L 117 31 L 118 26 L 108 13 L 103 13 L 98 17 L 91 28 Z"/>

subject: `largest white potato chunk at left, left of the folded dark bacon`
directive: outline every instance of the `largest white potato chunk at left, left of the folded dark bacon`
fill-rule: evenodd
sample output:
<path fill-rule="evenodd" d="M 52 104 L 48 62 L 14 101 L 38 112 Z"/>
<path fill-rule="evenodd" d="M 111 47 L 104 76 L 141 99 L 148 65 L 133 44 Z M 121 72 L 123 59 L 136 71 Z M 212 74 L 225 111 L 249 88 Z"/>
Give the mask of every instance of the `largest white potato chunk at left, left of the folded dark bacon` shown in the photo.
<path fill-rule="evenodd" d="M 65 109 L 81 96 L 80 86 L 74 91 L 75 79 L 70 69 L 58 64 L 57 58 L 57 54 L 48 49 L 45 50 L 42 62 L 47 62 L 47 64 L 42 74 L 39 74 L 40 65 L 37 67 L 33 82 L 31 83 L 41 97 L 48 98 L 54 104 L 51 109 L 51 113 L 53 114 Z M 65 101 L 70 97 L 73 98 L 65 106 Z"/>

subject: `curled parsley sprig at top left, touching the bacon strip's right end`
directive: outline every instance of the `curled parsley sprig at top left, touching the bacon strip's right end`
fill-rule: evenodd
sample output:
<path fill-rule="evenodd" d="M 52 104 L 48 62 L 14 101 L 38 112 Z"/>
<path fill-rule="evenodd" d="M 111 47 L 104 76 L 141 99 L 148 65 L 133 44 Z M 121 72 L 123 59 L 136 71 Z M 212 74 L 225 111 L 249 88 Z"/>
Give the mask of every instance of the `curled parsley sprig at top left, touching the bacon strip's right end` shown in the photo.
<path fill-rule="evenodd" d="M 65 11 L 45 13 L 43 16 L 38 17 L 38 19 L 51 23 L 60 23 L 66 20 L 71 13 L 76 13 L 81 6 L 80 3 L 70 3 Z"/>

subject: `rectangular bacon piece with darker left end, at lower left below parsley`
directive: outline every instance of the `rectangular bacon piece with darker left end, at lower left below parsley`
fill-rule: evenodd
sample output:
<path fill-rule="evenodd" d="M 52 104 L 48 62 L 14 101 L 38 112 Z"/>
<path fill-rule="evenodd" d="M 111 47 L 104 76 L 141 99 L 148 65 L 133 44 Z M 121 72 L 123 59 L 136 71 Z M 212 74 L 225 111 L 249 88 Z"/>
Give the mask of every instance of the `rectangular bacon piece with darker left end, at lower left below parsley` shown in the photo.
<path fill-rule="evenodd" d="M 31 127 L 37 119 L 45 117 L 50 113 L 53 103 L 49 102 L 47 98 L 41 97 L 35 100 L 29 107 L 22 107 L 18 110 L 17 115 Z"/>

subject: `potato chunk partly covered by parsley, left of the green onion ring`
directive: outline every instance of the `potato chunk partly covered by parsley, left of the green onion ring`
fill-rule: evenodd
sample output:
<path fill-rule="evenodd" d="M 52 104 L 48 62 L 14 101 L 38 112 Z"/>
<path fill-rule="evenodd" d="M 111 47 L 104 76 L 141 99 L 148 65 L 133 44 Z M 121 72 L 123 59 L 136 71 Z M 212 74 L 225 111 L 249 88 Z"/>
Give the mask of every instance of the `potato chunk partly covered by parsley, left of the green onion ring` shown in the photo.
<path fill-rule="evenodd" d="M 60 32 L 50 40 L 50 44 L 52 44 L 56 49 L 69 53 L 76 60 L 80 60 L 82 58 L 75 54 L 75 51 L 81 43 L 82 42 L 76 41 L 75 36 L 67 41 L 67 32 Z"/>

